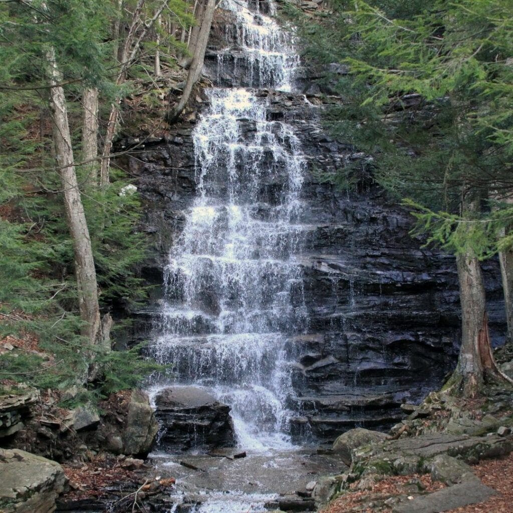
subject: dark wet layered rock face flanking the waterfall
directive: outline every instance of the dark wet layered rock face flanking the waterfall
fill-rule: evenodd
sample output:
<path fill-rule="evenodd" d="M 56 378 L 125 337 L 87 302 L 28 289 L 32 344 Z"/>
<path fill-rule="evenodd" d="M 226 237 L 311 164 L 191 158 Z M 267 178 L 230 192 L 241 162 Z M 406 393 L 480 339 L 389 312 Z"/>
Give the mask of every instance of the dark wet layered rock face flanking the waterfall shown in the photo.
<path fill-rule="evenodd" d="M 220 49 L 216 42 L 223 32 L 216 34 L 212 55 Z M 313 78 L 305 73 L 301 84 L 313 84 Z M 308 321 L 288 333 L 286 344 L 293 436 L 332 443 L 357 426 L 388 428 L 404 417 L 401 403 L 418 402 L 439 388 L 456 363 L 460 311 L 455 262 L 411 238 L 411 216 L 392 204 L 368 175 L 351 190 L 319 179 L 319 171 L 338 172 L 354 162 L 365 166 L 364 155 L 323 129 L 318 97 L 309 96 L 312 105 L 300 93 L 258 94 L 266 102 L 269 121 L 292 125 L 306 160 L 299 220 L 303 279 L 292 301 L 304 304 Z M 146 202 L 145 230 L 154 252 L 143 274 L 156 284 L 162 283 L 167 253 L 198 193 L 192 129 L 190 123 L 175 125 L 165 140 L 119 162 L 136 177 Z M 250 139 L 253 131 L 250 121 L 243 123 L 243 137 Z M 274 174 L 259 184 L 255 218 L 269 219 L 270 205 L 278 201 L 284 183 L 275 166 Z M 209 186 L 222 195 L 227 184 Z M 484 271 L 491 332 L 500 340 L 500 273 L 495 262 L 486 262 Z M 215 320 L 215 290 L 206 291 L 199 308 Z M 139 312 L 134 340 L 147 338 L 158 311 L 155 297 L 153 305 Z"/>

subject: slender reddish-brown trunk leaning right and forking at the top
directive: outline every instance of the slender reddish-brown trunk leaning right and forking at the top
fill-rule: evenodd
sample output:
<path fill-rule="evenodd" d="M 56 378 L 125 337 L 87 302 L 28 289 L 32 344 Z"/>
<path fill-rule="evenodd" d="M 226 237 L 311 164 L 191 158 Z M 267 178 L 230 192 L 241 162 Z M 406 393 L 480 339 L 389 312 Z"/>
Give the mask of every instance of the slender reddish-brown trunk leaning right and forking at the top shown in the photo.
<path fill-rule="evenodd" d="M 154 16 L 147 23 L 142 23 L 140 21 L 144 3 L 145 0 L 138 0 L 132 15 L 132 21 L 128 29 L 128 35 L 121 51 L 121 67 L 116 79 L 117 85 L 121 85 L 123 82 L 125 82 L 126 72 L 132 65 L 135 56 L 139 52 L 139 45 L 141 41 L 151 29 L 156 19 L 161 15 L 164 8 L 167 6 L 168 0 L 164 0 L 162 2 L 162 5 L 155 11 Z M 144 28 L 141 29 L 141 27 Z M 135 35 L 139 29 L 141 29 L 139 37 L 135 39 Z M 112 141 L 114 139 L 114 133 L 116 130 L 117 116 L 120 104 L 121 97 L 117 97 L 110 109 L 109 121 L 107 123 L 107 130 L 105 132 L 103 144 L 102 167 L 100 172 L 100 182 L 102 186 L 106 186 L 109 183 L 110 153 L 112 151 Z"/>

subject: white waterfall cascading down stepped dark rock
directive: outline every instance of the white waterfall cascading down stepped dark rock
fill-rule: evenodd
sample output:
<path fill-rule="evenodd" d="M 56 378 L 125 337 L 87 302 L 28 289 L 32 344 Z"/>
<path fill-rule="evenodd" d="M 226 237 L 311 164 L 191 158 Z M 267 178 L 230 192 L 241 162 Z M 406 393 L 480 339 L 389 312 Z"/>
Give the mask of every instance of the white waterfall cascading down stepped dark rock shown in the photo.
<path fill-rule="evenodd" d="M 152 350 L 173 383 L 208 387 L 232 408 L 245 448 L 290 445 L 286 344 L 307 315 L 299 263 L 304 158 L 290 125 L 267 119 L 267 91 L 290 91 L 298 56 L 272 2 L 223 0 L 226 40 L 247 88 L 208 89 L 193 132 L 199 194 L 165 269 Z M 218 70 L 233 47 L 220 52 Z"/>

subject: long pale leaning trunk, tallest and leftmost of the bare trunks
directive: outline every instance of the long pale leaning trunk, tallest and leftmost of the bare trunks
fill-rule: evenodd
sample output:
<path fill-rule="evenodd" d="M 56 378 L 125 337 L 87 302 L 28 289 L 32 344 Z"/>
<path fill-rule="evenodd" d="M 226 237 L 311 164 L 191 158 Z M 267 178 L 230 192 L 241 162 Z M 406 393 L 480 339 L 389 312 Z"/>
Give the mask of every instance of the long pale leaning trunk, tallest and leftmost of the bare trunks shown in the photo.
<path fill-rule="evenodd" d="M 50 109 L 53 114 L 53 143 L 63 184 L 68 227 L 73 242 L 78 305 L 84 321 L 83 335 L 87 337 L 91 345 L 96 345 L 101 343 L 102 338 L 91 240 L 76 179 L 66 97 L 63 88 L 56 85 L 62 82 L 62 74 L 55 62 L 53 49 L 48 51 L 47 60 L 50 85 L 52 86 L 50 88 Z"/>

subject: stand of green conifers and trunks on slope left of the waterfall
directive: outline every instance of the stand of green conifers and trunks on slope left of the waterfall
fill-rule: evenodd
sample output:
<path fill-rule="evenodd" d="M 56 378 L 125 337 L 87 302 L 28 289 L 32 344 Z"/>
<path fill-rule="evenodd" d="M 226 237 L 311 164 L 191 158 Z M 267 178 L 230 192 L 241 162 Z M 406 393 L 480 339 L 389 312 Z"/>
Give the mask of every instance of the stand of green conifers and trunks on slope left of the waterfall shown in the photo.
<path fill-rule="evenodd" d="M 186 0 L 0 3 L 0 340 L 29 348 L 0 351 L 0 380 L 106 393 L 154 368 L 111 351 L 110 311 L 145 295 L 147 242 L 109 162 L 132 80 L 157 54 L 159 76 L 176 69 L 194 24 Z"/>

